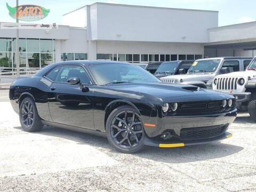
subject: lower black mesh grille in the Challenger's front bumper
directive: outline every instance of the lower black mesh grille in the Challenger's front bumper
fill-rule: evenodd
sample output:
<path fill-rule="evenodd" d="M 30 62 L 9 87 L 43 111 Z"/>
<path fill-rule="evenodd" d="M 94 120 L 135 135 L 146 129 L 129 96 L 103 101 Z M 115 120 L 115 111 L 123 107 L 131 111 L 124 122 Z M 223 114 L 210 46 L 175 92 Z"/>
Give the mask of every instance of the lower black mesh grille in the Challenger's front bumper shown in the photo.
<path fill-rule="evenodd" d="M 226 131 L 228 125 L 185 128 L 180 131 L 181 140 L 195 140 L 217 137 Z"/>

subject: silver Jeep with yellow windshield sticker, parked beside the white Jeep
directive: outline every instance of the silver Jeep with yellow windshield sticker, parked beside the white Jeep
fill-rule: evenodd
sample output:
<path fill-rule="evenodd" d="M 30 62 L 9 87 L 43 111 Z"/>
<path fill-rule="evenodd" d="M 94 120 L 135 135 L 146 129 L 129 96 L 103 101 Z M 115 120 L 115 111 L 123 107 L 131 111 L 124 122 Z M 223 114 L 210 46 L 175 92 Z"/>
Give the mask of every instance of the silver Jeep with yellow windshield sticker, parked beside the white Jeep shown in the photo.
<path fill-rule="evenodd" d="M 208 81 L 211 84 L 213 77 L 219 74 L 227 74 L 234 71 L 244 71 L 246 63 L 252 57 L 220 57 L 198 59 L 188 70 L 186 75 L 171 75 L 162 77 L 165 83 L 181 83 L 206 88 Z"/>

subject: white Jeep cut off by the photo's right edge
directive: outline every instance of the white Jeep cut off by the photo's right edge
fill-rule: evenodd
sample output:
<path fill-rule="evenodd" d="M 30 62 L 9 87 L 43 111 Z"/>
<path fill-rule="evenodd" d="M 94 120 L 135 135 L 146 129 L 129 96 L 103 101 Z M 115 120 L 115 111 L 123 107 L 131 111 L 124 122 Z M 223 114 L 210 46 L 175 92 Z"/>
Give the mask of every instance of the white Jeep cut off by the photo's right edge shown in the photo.
<path fill-rule="evenodd" d="M 248 110 L 256 121 L 256 57 L 243 72 L 216 76 L 212 89 L 234 95 L 237 108 Z"/>

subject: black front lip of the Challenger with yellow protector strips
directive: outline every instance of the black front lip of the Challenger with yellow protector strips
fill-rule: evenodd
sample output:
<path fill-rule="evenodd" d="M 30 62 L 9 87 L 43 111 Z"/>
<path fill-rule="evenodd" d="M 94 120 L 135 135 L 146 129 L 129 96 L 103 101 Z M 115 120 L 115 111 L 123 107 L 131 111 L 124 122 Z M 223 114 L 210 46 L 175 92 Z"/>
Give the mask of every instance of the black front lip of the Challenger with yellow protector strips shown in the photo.
<path fill-rule="evenodd" d="M 184 146 L 201 145 L 209 142 L 220 141 L 230 137 L 232 137 L 232 134 L 225 132 L 222 135 L 219 135 L 217 137 L 213 137 L 210 139 L 192 140 L 192 141 L 185 141 L 185 142 L 170 142 L 170 141 L 163 142 L 163 141 L 156 141 L 153 139 L 146 138 L 144 141 L 144 145 L 161 147 L 161 148 L 184 147 Z"/>

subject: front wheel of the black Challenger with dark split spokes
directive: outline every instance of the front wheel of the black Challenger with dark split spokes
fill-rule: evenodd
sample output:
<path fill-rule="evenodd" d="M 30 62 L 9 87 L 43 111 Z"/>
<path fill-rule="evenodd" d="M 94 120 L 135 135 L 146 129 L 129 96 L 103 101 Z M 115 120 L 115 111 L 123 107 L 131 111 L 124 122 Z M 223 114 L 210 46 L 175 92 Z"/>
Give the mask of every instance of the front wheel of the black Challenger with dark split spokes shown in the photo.
<path fill-rule="evenodd" d="M 143 123 L 131 106 L 120 106 L 110 113 L 106 132 L 110 145 L 123 153 L 137 153 L 144 147 Z"/>

